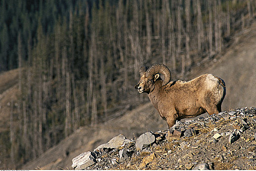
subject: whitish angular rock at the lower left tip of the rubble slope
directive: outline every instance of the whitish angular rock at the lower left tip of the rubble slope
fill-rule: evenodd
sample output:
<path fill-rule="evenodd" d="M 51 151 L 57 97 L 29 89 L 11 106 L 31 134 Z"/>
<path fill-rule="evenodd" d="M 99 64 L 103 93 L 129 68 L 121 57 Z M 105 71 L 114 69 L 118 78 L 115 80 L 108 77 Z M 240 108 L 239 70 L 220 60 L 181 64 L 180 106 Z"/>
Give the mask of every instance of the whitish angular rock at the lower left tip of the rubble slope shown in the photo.
<path fill-rule="evenodd" d="M 95 154 L 91 151 L 87 151 L 73 158 L 71 167 L 75 170 L 83 170 L 95 163 Z"/>

